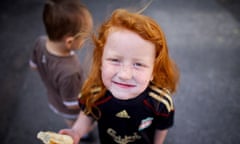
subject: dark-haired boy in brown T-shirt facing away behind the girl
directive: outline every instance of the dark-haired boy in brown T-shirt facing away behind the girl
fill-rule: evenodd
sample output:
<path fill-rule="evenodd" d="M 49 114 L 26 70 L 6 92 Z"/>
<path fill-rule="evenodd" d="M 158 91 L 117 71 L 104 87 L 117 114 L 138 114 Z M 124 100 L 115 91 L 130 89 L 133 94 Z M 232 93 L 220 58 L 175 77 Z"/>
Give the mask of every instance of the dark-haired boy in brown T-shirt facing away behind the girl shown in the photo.
<path fill-rule="evenodd" d="M 89 10 L 79 0 L 47 0 L 43 10 L 47 36 L 40 36 L 29 61 L 47 89 L 49 107 L 71 127 L 80 108 L 83 71 L 75 50 L 93 27 Z"/>

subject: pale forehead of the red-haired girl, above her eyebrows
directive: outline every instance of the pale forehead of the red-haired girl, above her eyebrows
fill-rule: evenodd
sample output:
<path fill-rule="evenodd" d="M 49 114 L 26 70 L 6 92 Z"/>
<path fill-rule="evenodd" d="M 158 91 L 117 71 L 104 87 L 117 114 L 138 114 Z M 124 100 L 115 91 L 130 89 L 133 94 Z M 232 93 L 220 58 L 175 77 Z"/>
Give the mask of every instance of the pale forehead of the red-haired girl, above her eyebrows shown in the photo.
<path fill-rule="evenodd" d="M 132 31 L 126 29 L 115 31 L 114 29 L 108 35 L 103 53 L 128 58 L 151 58 L 155 57 L 155 45 Z"/>

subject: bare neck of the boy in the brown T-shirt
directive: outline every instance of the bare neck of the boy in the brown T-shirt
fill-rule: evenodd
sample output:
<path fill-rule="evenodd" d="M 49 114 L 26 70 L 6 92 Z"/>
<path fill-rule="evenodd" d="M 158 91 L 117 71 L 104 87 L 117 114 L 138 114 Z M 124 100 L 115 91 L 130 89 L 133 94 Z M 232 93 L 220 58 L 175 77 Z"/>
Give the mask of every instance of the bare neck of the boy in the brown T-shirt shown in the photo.
<path fill-rule="evenodd" d="M 59 42 L 54 42 L 51 40 L 47 40 L 46 43 L 46 48 L 47 51 L 53 55 L 56 56 L 70 56 L 71 55 L 71 50 L 66 48 L 64 42 L 59 41 Z"/>

